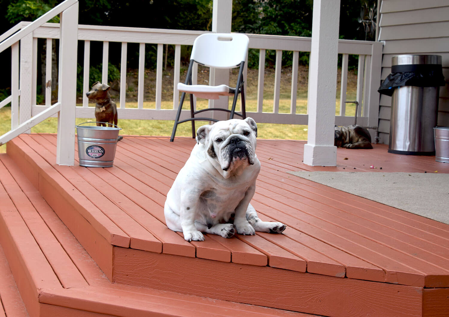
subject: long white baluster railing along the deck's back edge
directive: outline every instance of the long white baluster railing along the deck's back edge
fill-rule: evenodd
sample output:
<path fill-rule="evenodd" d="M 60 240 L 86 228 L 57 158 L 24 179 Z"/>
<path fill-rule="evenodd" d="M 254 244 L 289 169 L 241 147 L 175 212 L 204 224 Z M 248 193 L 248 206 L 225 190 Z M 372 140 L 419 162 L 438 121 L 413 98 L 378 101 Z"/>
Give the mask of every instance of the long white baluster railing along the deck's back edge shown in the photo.
<path fill-rule="evenodd" d="M 34 23 L 34 22 L 33 22 Z M 22 22 L 22 25 L 26 25 L 26 22 Z M 26 27 L 23 29 L 25 30 Z M 203 31 L 181 31 L 181 30 L 165 30 L 165 29 L 145 29 L 145 28 L 132 28 L 132 27 L 106 27 L 106 26 L 78 26 L 78 40 L 80 41 L 80 47 L 84 46 L 84 76 L 83 76 L 83 105 L 79 107 L 73 107 L 76 109 L 76 117 L 91 118 L 93 117 L 92 107 L 88 107 L 88 99 L 85 97 L 85 93 L 89 90 L 89 67 L 90 67 L 90 46 L 92 41 L 102 42 L 102 82 L 107 82 L 108 76 L 108 60 L 109 60 L 109 44 L 110 42 L 121 43 L 121 69 L 120 69 L 120 94 L 119 94 L 119 118 L 120 119 L 145 119 L 145 120 L 174 120 L 176 116 L 176 109 L 179 102 L 179 93 L 176 90 L 176 85 L 180 81 L 180 52 L 181 45 L 192 45 L 194 39 L 204 33 Z M 255 112 L 247 111 L 247 116 L 251 116 L 256 122 L 260 123 L 286 123 L 286 124 L 308 124 L 308 115 L 306 113 L 296 113 L 296 91 L 297 76 L 298 76 L 298 57 L 299 52 L 310 52 L 311 38 L 296 37 L 296 36 L 270 36 L 270 35 L 254 35 L 247 34 L 250 38 L 250 49 L 260 50 L 259 60 L 259 78 L 258 78 L 258 93 L 257 93 L 257 109 Z M 24 93 L 29 98 L 22 98 L 20 100 L 20 107 L 30 108 L 31 113 L 29 116 L 37 116 L 43 111 L 46 111 L 49 104 L 49 93 L 47 88 L 46 92 L 46 104 L 36 105 L 36 75 L 35 69 L 37 65 L 37 39 L 45 39 L 47 41 L 47 54 L 51 54 L 52 39 L 59 39 L 61 31 L 59 30 L 59 24 L 45 23 L 40 27 L 36 27 L 32 33 L 32 39 L 21 43 L 22 50 L 28 52 L 26 58 L 22 58 L 21 55 L 21 69 L 22 63 L 24 65 L 31 64 L 29 72 L 21 72 L 22 80 L 28 80 L 30 83 L 26 87 L 26 91 L 22 90 L 21 96 Z M 63 39 L 64 41 L 64 39 Z M 137 89 L 137 107 L 127 107 L 126 101 L 126 64 L 127 64 L 127 47 L 128 43 L 136 43 L 139 45 L 139 66 L 138 66 L 138 89 Z M 83 45 L 84 44 L 84 45 Z M 157 45 L 157 67 L 156 67 L 156 95 L 155 95 L 155 107 L 152 109 L 144 108 L 144 75 L 145 75 L 145 44 Z M 173 76 L 173 107 L 172 109 L 161 108 L 161 96 L 162 96 L 162 65 L 163 65 L 163 46 L 174 45 L 174 76 Z M 276 67 L 275 67 L 275 85 L 273 91 L 273 111 L 263 112 L 262 105 L 264 102 L 264 64 L 265 64 L 265 51 L 276 51 Z M 76 47 L 75 47 L 76 51 Z M 282 53 L 286 51 L 293 52 L 292 54 L 292 84 L 291 84 L 291 107 L 289 113 L 279 112 L 279 99 L 280 99 L 280 76 L 281 76 L 281 63 Z M 32 52 L 32 53 L 31 53 Z M 342 72 L 341 72 L 341 94 L 340 94 L 340 112 L 335 116 L 336 125 L 350 125 L 354 123 L 354 117 L 345 115 L 345 101 L 346 101 L 346 88 L 347 88 L 347 75 L 348 75 L 348 56 L 350 54 L 358 55 L 358 75 L 357 75 L 357 101 L 359 103 L 357 124 L 365 126 L 375 126 L 378 124 L 378 112 L 379 112 L 379 94 L 377 88 L 380 82 L 380 67 L 382 59 L 382 44 L 379 42 L 370 41 L 356 41 L 356 40 L 339 40 L 338 53 L 342 54 Z M 51 78 L 51 59 L 47 58 L 46 78 Z M 76 61 L 76 56 L 75 56 Z M 16 60 L 13 60 L 13 65 L 17 64 Z M 247 65 L 247 63 L 246 63 Z M 60 63 L 60 67 L 64 67 L 63 63 Z M 61 74 L 62 69 L 59 69 Z M 194 78 L 198 73 L 198 69 L 194 69 Z M 245 69 L 245 75 L 247 69 Z M 29 78 L 22 78 L 29 77 Z M 61 76 L 59 76 L 61 79 Z M 70 77 L 74 80 L 73 76 Z M 194 80 L 195 81 L 195 80 Z M 74 87 L 75 83 L 71 84 Z M 13 85 L 12 85 L 13 86 Z M 48 85 L 50 86 L 50 85 Z M 25 89 L 25 87 L 23 88 Z M 59 92 L 61 92 L 61 85 L 59 84 Z M 75 104 L 75 96 L 70 100 L 70 104 Z M 66 91 L 65 91 L 66 94 Z M 61 94 L 59 94 L 61 96 Z M 352 100 L 349 100 L 352 101 Z M 14 102 L 14 97 L 13 97 Z M 0 104 L 1 105 L 1 104 Z M 63 104 L 62 104 L 63 105 Z M 187 107 L 186 107 L 187 108 Z M 190 116 L 189 110 L 183 110 L 181 114 L 182 118 Z M 22 122 L 22 111 L 21 111 Z M 73 129 L 69 129 L 73 130 Z M 59 138 L 59 135 L 58 135 Z"/>

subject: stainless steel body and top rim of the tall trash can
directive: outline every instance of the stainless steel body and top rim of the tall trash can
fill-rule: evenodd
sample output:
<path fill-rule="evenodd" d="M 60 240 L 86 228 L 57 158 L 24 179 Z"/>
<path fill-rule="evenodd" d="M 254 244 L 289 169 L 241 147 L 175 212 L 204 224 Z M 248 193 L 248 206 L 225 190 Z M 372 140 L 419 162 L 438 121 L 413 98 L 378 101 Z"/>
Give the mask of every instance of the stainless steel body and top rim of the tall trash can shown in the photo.
<path fill-rule="evenodd" d="M 427 65 L 427 66 L 426 66 Z M 392 72 L 413 71 L 440 65 L 440 55 L 397 55 Z M 435 155 L 433 128 L 438 115 L 440 87 L 401 86 L 394 89 L 388 152 Z"/>

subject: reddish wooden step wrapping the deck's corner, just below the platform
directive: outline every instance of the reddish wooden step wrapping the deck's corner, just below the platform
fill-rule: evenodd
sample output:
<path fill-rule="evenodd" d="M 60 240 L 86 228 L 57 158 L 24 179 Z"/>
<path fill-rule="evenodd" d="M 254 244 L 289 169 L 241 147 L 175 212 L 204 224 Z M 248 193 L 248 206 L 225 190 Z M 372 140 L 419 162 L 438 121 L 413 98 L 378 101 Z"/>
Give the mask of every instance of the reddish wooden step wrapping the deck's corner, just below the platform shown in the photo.
<path fill-rule="evenodd" d="M 111 283 L 6 154 L 0 154 L 0 174 L 0 300 L 6 317 L 311 316 Z"/>

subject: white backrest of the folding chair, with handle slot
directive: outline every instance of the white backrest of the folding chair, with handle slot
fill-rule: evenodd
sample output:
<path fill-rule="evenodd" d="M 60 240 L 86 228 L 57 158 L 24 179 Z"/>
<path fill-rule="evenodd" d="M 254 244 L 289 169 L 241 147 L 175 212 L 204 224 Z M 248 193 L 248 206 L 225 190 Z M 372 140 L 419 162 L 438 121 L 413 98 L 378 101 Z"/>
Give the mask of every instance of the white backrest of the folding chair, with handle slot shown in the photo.
<path fill-rule="evenodd" d="M 247 58 L 248 44 L 245 34 L 202 34 L 194 41 L 190 59 L 209 67 L 237 67 Z"/>

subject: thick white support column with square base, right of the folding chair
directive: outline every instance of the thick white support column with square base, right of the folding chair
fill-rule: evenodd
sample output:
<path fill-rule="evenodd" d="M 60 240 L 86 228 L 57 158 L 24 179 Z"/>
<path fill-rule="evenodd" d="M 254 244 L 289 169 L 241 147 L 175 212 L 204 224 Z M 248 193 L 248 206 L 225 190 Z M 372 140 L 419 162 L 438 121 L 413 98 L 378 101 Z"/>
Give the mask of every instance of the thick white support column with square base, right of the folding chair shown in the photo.
<path fill-rule="evenodd" d="M 308 86 L 308 141 L 304 164 L 335 166 L 339 0 L 314 0 Z"/>

